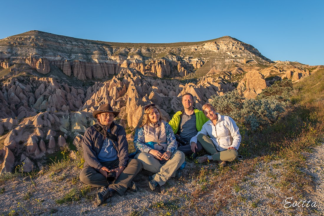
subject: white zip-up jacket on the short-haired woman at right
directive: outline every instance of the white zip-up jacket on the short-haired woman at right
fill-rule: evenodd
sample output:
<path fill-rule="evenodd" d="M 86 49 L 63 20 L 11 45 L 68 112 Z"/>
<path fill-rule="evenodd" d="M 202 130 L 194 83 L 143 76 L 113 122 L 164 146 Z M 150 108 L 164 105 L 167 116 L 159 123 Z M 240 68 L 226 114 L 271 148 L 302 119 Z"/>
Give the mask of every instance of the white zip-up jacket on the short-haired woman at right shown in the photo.
<path fill-rule="evenodd" d="M 234 147 L 238 150 L 241 142 L 241 134 L 235 121 L 229 116 L 221 116 L 219 113 L 216 126 L 211 120 L 203 125 L 203 129 L 192 137 L 191 142 L 197 143 L 197 136 L 199 134 L 208 135 L 214 142 L 217 151 L 227 150 L 229 147 Z"/>

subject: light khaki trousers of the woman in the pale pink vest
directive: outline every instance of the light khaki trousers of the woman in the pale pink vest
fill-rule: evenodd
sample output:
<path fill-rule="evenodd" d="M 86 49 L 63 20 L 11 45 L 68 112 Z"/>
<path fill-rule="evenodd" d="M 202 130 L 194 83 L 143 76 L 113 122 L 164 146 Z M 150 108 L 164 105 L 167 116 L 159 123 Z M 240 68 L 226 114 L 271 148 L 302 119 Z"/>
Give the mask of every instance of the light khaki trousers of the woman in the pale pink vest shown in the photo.
<path fill-rule="evenodd" d="M 176 150 L 165 164 L 160 164 L 153 154 L 141 152 L 135 158 L 142 162 L 143 169 L 155 173 L 152 177 L 160 185 L 164 185 L 170 177 L 175 177 L 176 171 L 183 164 L 184 153 Z"/>

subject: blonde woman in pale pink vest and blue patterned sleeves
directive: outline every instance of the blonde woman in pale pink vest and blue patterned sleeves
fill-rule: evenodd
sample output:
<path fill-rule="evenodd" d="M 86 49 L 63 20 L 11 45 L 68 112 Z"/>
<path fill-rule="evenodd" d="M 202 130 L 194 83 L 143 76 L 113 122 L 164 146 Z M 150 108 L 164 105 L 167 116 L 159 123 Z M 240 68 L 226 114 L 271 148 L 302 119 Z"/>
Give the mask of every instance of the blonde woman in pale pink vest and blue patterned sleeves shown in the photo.
<path fill-rule="evenodd" d="M 181 176 L 179 167 L 184 153 L 177 150 L 177 142 L 171 126 L 155 104 L 144 107 L 142 123 L 134 136 L 135 159 L 143 168 L 155 173 L 149 176 L 151 190 L 164 185 L 170 177 Z"/>

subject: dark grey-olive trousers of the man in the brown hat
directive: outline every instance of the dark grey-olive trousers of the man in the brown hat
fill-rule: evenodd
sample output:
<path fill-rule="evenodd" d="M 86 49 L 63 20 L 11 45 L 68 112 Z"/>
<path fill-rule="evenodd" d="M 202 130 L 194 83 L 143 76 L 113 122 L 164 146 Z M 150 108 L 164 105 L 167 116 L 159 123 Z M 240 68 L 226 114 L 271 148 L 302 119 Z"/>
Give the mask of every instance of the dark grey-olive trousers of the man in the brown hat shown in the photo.
<path fill-rule="evenodd" d="M 100 162 L 101 165 L 106 166 L 107 168 L 116 167 L 119 165 L 119 160 Z M 112 168 L 112 169 L 113 169 Z M 127 188 L 130 186 L 133 178 L 142 170 L 142 164 L 136 159 L 128 159 L 127 166 L 118 176 L 116 181 L 109 185 L 106 177 L 98 172 L 95 168 L 91 166 L 84 167 L 80 172 L 80 180 L 82 183 L 91 185 L 94 187 L 106 187 L 116 190 L 120 195 L 123 195 Z"/>

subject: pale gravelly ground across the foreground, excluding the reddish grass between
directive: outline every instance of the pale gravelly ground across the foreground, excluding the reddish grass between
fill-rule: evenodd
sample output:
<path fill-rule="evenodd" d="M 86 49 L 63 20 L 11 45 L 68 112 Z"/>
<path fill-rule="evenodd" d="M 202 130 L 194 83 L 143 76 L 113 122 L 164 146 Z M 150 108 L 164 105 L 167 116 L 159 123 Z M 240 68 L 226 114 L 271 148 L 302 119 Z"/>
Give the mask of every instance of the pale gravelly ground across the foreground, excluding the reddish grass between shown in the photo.
<path fill-rule="evenodd" d="M 254 173 L 245 176 L 242 183 L 233 187 L 233 199 L 218 215 L 323 215 L 324 200 L 324 144 L 315 147 L 307 155 L 307 168 L 302 170 L 313 176 L 314 191 L 310 191 L 302 200 L 316 201 L 317 207 L 284 208 L 283 196 L 278 187 L 282 177 L 283 161 L 261 161 Z M 244 162 L 243 162 L 244 163 Z M 161 188 L 161 192 L 152 192 L 147 185 L 147 171 L 142 171 L 134 179 L 139 191 L 127 191 L 125 195 L 116 195 L 97 207 L 95 203 L 96 188 L 78 201 L 57 204 L 72 188 L 78 191 L 86 186 L 78 181 L 79 169 L 70 168 L 55 174 L 46 174 L 33 180 L 30 177 L 17 177 L 0 186 L 0 215 L 172 215 L 161 213 L 162 202 L 180 198 L 181 205 L 188 206 L 187 196 L 193 192 L 192 170 L 197 169 L 194 163 L 187 163 L 181 180 L 170 179 Z M 192 178 L 192 177 L 191 177 Z M 214 192 L 210 191 L 212 196 Z M 161 205 L 159 205 L 161 203 Z M 306 211 L 306 209 L 308 211 Z M 196 215 L 194 211 L 191 213 Z"/>

